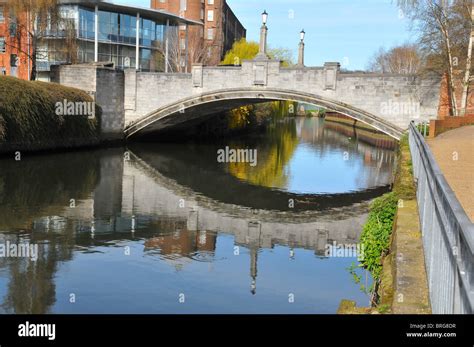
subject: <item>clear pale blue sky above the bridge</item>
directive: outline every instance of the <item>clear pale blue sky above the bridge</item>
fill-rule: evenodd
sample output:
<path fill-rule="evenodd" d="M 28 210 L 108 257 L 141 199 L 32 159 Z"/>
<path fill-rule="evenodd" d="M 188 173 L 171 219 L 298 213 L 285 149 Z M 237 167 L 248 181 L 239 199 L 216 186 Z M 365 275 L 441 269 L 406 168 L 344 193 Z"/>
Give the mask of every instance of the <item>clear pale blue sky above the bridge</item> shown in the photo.
<path fill-rule="evenodd" d="M 112 0 L 150 6 L 150 0 Z M 306 31 L 307 66 L 339 61 L 344 68 L 364 69 L 379 47 L 414 41 L 396 0 L 227 0 L 258 41 L 261 13 L 269 13 L 270 47 L 289 48 L 297 57 L 299 32 Z"/>

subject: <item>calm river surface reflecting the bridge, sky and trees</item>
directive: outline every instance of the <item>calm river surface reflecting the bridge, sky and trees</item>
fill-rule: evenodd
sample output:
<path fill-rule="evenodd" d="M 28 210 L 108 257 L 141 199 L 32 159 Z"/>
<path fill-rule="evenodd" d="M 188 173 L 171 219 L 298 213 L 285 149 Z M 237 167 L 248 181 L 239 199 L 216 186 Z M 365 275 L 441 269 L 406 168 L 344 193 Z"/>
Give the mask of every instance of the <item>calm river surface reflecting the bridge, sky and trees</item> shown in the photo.
<path fill-rule="evenodd" d="M 256 148 L 257 165 L 218 163 L 225 146 Z M 2 158 L 0 245 L 33 248 L 29 258 L 0 257 L 0 313 L 335 313 L 341 299 L 367 305 L 348 271 L 357 258 L 326 250 L 358 242 L 394 158 L 385 145 L 317 118 L 220 144 Z"/>

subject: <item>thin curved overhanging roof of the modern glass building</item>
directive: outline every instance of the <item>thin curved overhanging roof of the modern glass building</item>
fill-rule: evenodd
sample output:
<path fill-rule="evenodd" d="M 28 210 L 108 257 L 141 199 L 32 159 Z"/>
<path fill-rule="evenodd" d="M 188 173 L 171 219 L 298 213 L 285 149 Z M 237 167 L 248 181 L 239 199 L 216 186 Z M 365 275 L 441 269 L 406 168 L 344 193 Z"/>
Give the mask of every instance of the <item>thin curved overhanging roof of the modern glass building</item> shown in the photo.
<path fill-rule="evenodd" d="M 1 2 L 1 0 L 0 0 Z M 201 21 L 190 20 L 176 14 L 166 12 L 163 10 L 155 10 L 146 7 L 139 7 L 139 6 L 130 6 L 130 5 L 122 5 L 122 4 L 114 4 L 110 1 L 104 0 L 59 0 L 61 5 L 80 5 L 86 8 L 95 8 L 97 5 L 100 10 L 110 11 L 110 12 L 119 12 L 123 14 L 133 15 L 135 16 L 137 13 L 140 14 L 140 17 L 145 19 L 169 19 L 172 22 L 178 24 L 189 24 L 189 25 L 204 25 Z"/>

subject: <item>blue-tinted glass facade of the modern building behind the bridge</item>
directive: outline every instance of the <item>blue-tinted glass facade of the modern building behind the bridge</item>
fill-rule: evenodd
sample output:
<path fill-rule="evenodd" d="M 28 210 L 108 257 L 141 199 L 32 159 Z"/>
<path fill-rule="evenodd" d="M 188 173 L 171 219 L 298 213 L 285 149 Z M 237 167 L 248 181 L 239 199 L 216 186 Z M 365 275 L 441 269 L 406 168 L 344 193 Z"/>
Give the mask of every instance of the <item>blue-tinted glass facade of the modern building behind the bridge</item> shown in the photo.
<path fill-rule="evenodd" d="M 68 47 L 65 43 L 66 40 L 62 39 L 64 35 L 61 35 L 60 30 L 44 39 L 38 47 L 39 70 L 48 71 L 53 64 L 94 62 L 94 9 L 63 5 L 62 10 L 68 12 L 68 17 L 74 21 L 76 44 L 74 47 Z M 122 69 L 135 67 L 137 17 L 99 10 L 98 26 L 99 61 L 114 62 L 116 67 Z M 140 70 L 164 71 L 165 20 L 140 18 L 138 27 Z M 68 56 L 70 48 L 77 53 L 77 59 L 71 59 Z"/>

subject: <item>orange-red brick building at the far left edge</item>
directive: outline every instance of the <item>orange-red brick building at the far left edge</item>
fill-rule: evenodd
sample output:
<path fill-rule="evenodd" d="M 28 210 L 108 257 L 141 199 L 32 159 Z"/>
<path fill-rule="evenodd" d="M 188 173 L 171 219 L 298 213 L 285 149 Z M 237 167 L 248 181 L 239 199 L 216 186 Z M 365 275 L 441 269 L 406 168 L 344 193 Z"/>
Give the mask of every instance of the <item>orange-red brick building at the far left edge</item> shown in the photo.
<path fill-rule="evenodd" d="M 26 34 L 26 15 L 11 19 L 6 0 L 0 0 L 0 75 L 29 79 L 31 45 Z"/>

